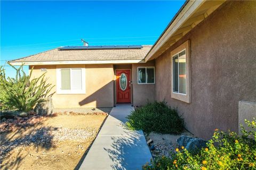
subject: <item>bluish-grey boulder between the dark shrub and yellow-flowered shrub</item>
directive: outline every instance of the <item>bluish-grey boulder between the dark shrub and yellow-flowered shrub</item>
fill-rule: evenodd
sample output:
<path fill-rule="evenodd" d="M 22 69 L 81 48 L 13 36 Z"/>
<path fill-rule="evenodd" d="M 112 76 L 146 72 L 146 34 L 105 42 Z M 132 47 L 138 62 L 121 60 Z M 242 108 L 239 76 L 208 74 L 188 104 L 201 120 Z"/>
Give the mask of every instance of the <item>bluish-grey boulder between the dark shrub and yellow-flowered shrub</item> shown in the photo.
<path fill-rule="evenodd" d="M 177 139 L 179 146 L 185 147 L 190 152 L 197 152 L 203 147 L 206 147 L 207 141 L 201 138 L 188 137 L 187 135 L 182 135 Z"/>

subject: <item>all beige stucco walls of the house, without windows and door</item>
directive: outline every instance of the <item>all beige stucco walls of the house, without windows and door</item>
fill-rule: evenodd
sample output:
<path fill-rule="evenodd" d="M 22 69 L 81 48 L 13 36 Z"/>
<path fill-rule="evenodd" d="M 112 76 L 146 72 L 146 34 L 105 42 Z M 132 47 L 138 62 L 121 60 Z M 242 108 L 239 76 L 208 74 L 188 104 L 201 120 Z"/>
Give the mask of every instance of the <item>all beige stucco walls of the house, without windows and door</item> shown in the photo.
<path fill-rule="evenodd" d="M 115 70 L 130 69 L 133 106 L 145 105 L 147 100 L 165 99 L 170 106 L 178 107 L 187 130 L 204 139 L 210 139 L 216 128 L 237 132 L 241 122 L 239 101 L 256 102 L 255 16 L 256 1 L 227 1 L 202 22 L 192 24 L 195 27 L 186 35 L 182 34 L 175 44 L 164 44 L 167 48 L 156 52 L 159 55 L 154 56 L 155 60 L 126 64 L 37 65 L 33 76 L 38 77 L 44 73 L 40 69 L 46 68 L 47 81 L 56 85 L 56 69 L 84 67 L 86 93 L 55 93 L 54 107 L 113 107 L 116 105 Z M 190 75 L 187 87 L 190 97 L 186 102 L 173 98 L 171 91 L 172 52 L 185 42 L 189 42 L 187 70 Z M 155 66 L 154 84 L 138 84 L 138 67 L 143 66 Z M 53 88 L 52 92 L 55 91 Z"/>

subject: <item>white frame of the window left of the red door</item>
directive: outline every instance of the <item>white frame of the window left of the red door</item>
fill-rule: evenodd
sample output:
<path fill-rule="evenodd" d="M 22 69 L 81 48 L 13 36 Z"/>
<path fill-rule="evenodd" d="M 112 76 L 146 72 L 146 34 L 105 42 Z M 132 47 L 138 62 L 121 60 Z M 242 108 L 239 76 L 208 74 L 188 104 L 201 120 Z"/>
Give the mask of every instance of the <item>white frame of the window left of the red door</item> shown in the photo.
<path fill-rule="evenodd" d="M 61 90 L 61 69 L 69 69 L 70 70 L 70 90 Z M 72 69 L 81 69 L 82 74 L 82 89 L 81 90 L 72 90 L 72 77 L 71 70 Z M 57 94 L 85 94 L 85 68 L 58 68 L 56 69 L 57 75 Z"/>

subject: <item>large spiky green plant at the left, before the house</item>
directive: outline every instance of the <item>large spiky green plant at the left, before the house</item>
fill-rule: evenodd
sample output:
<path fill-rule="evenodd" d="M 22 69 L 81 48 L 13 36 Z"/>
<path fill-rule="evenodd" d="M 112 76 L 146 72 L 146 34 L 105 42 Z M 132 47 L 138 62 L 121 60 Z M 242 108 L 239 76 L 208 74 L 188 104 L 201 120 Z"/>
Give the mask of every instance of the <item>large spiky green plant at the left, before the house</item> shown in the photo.
<path fill-rule="evenodd" d="M 15 78 L 6 78 L 4 67 L 0 67 L 0 101 L 1 109 L 18 109 L 19 111 L 28 112 L 33 107 L 43 101 L 51 89 L 54 87 L 46 83 L 45 73 L 38 78 L 31 79 L 33 68 L 29 75 L 23 70 L 23 64 L 16 70 Z"/>

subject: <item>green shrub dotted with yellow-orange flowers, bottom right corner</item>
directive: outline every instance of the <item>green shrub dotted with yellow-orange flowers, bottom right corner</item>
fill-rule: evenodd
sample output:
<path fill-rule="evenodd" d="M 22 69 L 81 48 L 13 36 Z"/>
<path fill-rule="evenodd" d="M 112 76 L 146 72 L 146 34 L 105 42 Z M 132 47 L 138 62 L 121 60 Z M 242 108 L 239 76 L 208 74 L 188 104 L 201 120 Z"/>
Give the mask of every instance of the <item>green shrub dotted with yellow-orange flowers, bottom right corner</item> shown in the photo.
<path fill-rule="evenodd" d="M 215 130 L 213 137 L 199 154 L 193 155 L 186 149 L 177 148 L 172 158 L 159 157 L 151 160 L 143 169 L 256 169 L 256 122 L 246 121 L 251 131 L 234 132 Z"/>

